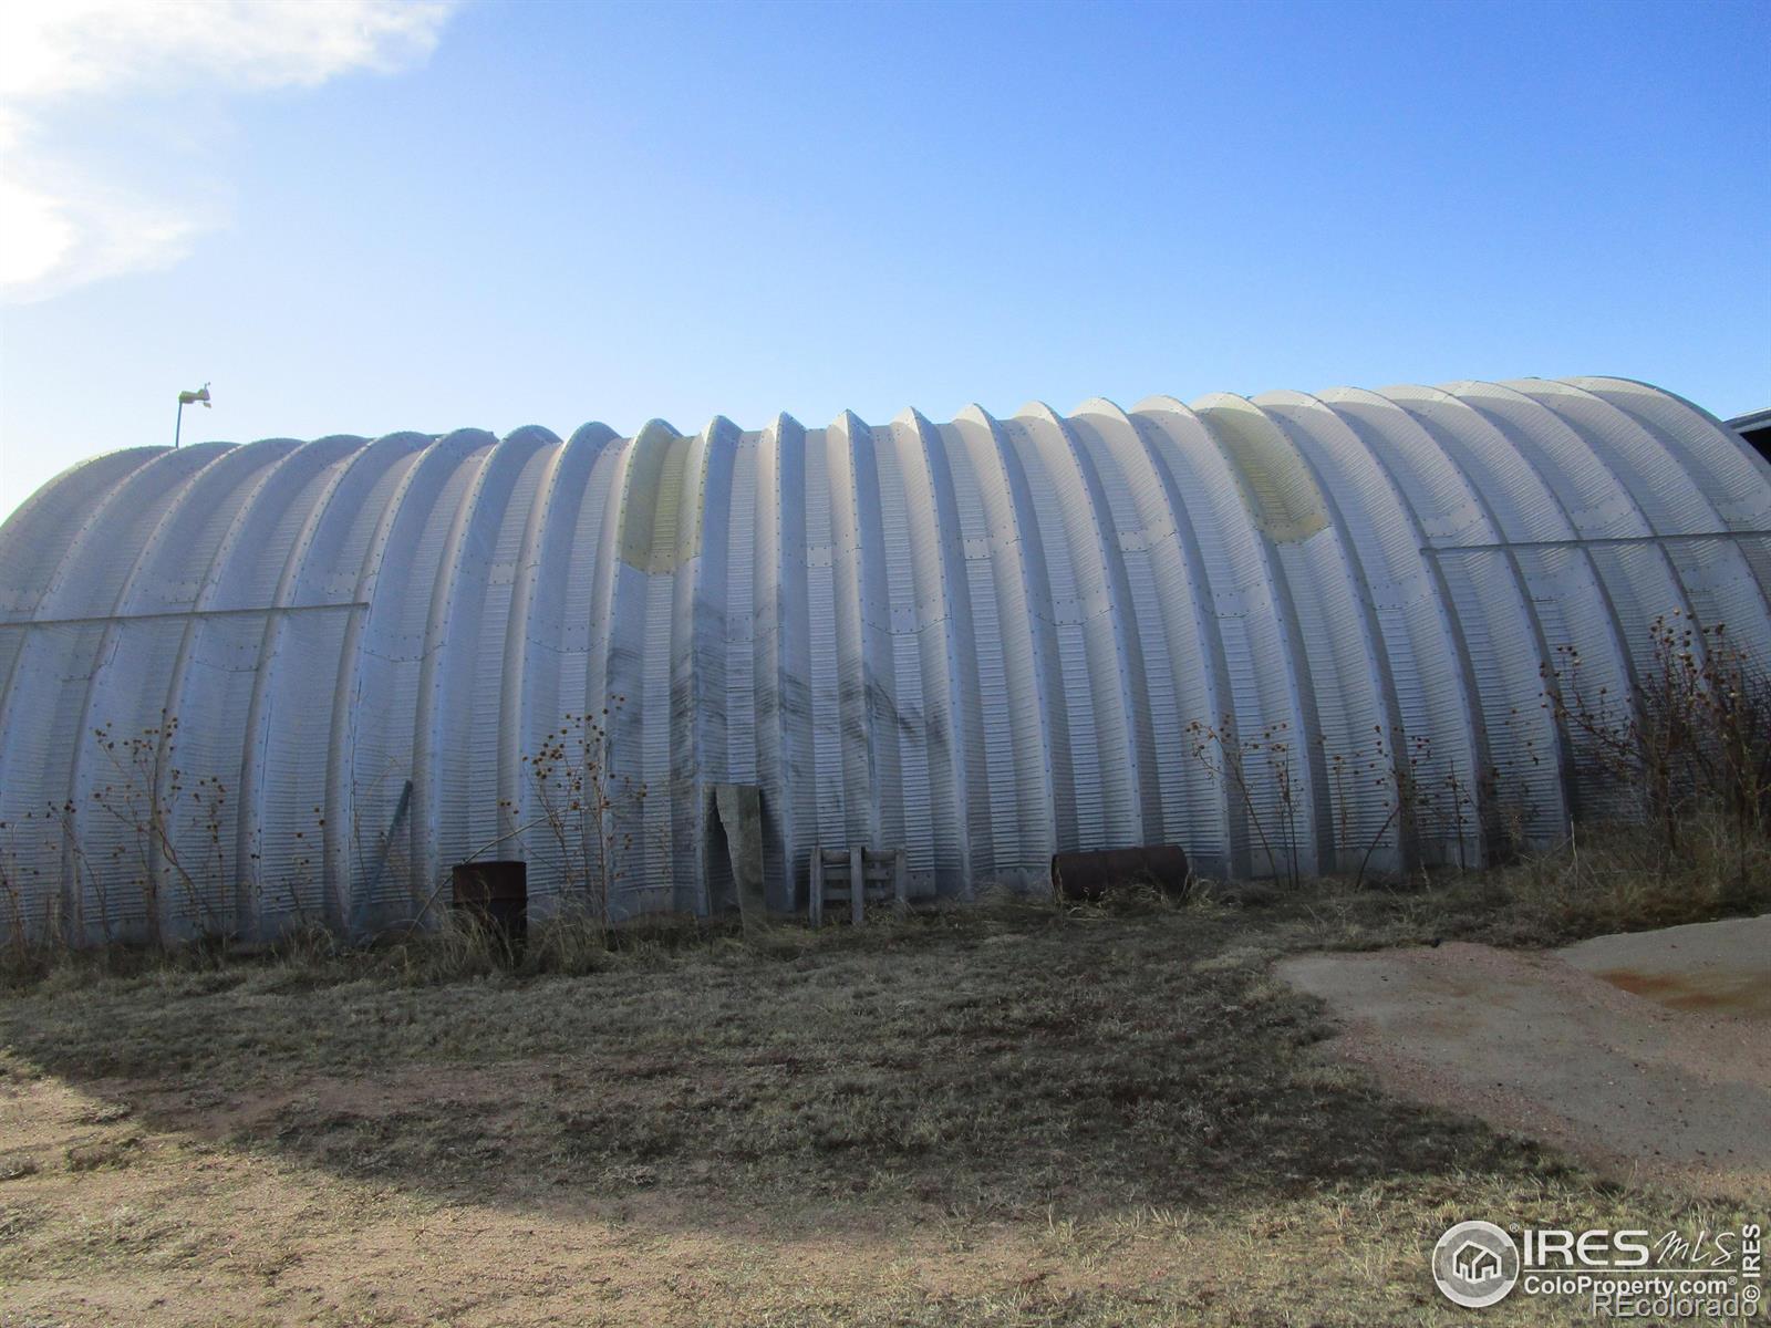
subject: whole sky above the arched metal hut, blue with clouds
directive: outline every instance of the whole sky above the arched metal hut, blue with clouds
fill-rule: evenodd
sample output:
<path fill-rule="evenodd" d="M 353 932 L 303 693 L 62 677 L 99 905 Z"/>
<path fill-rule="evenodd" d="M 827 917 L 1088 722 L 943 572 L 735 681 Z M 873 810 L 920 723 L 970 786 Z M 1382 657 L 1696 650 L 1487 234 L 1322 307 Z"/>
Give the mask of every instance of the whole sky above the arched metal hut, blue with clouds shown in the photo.
<path fill-rule="evenodd" d="M 186 441 L 1771 405 L 1762 0 L 81 5 L 0 30 L 0 513 L 204 381 Z"/>

